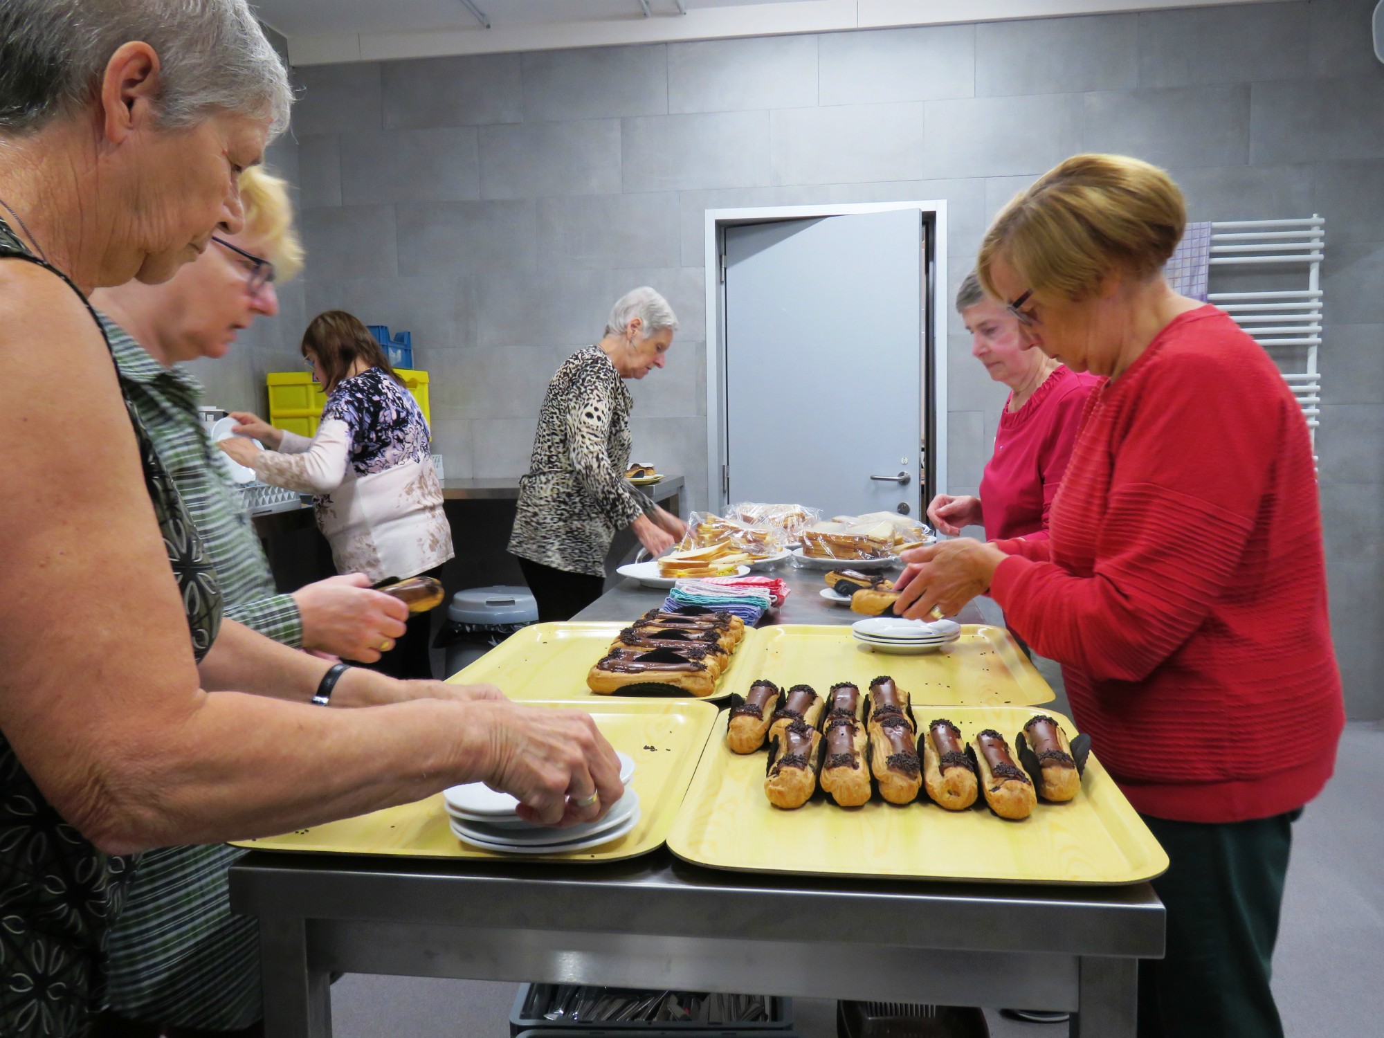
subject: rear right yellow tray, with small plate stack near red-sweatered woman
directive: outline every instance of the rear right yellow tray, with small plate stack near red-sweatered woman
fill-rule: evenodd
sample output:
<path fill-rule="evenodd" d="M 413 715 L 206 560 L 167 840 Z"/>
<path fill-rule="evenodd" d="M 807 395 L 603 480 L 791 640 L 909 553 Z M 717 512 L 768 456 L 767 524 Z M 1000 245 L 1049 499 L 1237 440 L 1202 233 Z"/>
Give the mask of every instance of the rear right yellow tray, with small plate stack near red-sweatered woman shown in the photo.
<path fill-rule="evenodd" d="M 779 688 L 807 682 L 825 692 L 837 681 L 865 688 L 872 678 L 890 674 L 915 703 L 1035 706 L 1055 699 L 1052 686 L 1003 627 L 965 624 L 960 630 L 959 641 L 937 652 L 897 656 L 872 652 L 851 637 L 850 627 L 763 627 L 746 646 L 740 670 L 727 671 L 721 688 L 727 680 L 743 675 L 743 688 L 729 689 L 742 696 L 757 678 L 768 678 Z"/>

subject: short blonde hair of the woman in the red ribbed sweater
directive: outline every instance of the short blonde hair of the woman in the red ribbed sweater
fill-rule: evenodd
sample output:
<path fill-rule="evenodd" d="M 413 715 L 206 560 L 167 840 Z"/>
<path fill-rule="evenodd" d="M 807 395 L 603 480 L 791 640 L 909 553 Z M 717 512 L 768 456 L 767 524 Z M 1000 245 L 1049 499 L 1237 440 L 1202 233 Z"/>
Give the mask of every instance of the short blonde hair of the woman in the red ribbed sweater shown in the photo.
<path fill-rule="evenodd" d="M 1014 197 L 985 231 L 976 262 L 991 280 L 998 256 L 1032 292 L 1078 300 L 1111 273 L 1156 274 L 1186 228 L 1182 191 L 1157 166 L 1128 155 L 1073 155 Z"/>

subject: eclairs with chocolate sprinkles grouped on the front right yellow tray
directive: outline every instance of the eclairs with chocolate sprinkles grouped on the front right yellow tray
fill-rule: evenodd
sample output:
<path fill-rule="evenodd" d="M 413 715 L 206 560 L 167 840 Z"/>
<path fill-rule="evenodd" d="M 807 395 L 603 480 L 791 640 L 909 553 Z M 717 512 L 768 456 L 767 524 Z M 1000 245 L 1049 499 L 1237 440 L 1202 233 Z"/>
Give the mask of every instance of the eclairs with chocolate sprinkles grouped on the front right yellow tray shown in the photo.
<path fill-rule="evenodd" d="M 818 781 L 837 804 L 857 807 L 869 800 L 873 774 L 894 804 L 912 803 L 926 787 L 941 807 L 962 811 L 984 792 L 995 814 L 1019 819 L 1037 803 L 1034 783 L 1046 800 L 1074 797 L 1085 763 L 1084 752 L 1073 758 L 1066 732 L 1046 714 L 1030 718 L 1016 739 L 1028 774 L 994 729 L 977 734 L 978 753 L 947 718 L 919 735 L 908 692 L 887 675 L 871 682 L 869 696 L 839 682 L 825 699 L 808 685 L 779 692 L 771 681 L 754 682 L 731 711 L 727 742 L 736 753 L 753 753 L 765 740 L 764 792 L 783 808 L 807 803 Z"/>

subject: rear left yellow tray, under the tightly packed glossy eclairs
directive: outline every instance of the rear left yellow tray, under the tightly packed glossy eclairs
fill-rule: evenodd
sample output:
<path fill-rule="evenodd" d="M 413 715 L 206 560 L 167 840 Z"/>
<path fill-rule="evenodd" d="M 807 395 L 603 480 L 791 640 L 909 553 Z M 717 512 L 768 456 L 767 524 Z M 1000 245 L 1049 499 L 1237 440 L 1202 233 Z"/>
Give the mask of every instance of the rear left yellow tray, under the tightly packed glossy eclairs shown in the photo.
<path fill-rule="evenodd" d="M 750 674 L 761 631 L 746 631 L 731 655 L 731 666 L 709 696 L 670 688 L 666 695 L 650 692 L 599 695 L 587 688 L 587 671 L 605 656 L 628 621 L 533 624 L 511 635 L 469 667 L 457 671 L 451 682 L 498 685 L 511 699 L 580 699 L 583 703 L 610 699 L 725 699 L 745 692 L 757 674 Z M 740 686 L 745 688 L 740 688 Z"/>

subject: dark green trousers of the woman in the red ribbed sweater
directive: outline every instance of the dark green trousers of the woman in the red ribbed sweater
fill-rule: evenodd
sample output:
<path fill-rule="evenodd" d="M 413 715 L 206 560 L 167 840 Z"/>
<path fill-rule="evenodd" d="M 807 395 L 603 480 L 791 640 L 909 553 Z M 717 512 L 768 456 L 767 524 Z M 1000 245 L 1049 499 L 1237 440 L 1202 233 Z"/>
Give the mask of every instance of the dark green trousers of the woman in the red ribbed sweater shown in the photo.
<path fill-rule="evenodd" d="M 1168 951 L 1139 963 L 1139 1038 L 1283 1038 L 1269 988 L 1293 822 L 1145 822 L 1168 853 L 1153 889 Z"/>

